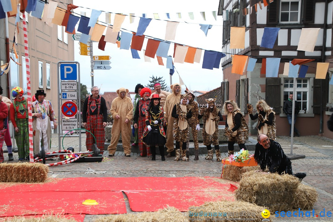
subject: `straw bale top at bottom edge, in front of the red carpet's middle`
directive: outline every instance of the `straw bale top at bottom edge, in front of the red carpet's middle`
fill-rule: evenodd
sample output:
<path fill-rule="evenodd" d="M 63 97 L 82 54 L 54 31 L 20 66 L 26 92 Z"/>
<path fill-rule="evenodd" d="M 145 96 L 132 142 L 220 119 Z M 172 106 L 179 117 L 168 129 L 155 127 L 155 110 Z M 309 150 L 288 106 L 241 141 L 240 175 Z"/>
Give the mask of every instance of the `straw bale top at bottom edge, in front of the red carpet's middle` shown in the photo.
<path fill-rule="evenodd" d="M 187 216 L 174 207 L 167 206 L 157 212 L 118 214 L 100 217 L 95 222 L 188 222 Z"/>

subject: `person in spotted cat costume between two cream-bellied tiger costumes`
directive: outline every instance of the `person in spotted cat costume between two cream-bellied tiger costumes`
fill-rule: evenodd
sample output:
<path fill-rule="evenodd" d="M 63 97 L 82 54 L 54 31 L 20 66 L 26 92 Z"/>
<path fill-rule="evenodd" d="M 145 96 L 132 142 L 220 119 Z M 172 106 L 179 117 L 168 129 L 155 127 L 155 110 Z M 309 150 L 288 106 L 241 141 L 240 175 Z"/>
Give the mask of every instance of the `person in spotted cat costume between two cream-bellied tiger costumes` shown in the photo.
<path fill-rule="evenodd" d="M 194 160 L 199 159 L 199 142 L 198 142 L 198 131 L 200 131 L 200 125 L 199 125 L 199 105 L 197 102 L 194 101 L 194 93 L 191 90 L 186 91 L 188 98 L 188 105 L 191 107 L 192 117 L 187 120 L 187 123 L 190 128 L 192 128 L 192 136 L 193 136 L 193 142 L 194 142 Z M 186 141 L 186 152 L 189 151 L 189 134 L 187 136 Z"/>

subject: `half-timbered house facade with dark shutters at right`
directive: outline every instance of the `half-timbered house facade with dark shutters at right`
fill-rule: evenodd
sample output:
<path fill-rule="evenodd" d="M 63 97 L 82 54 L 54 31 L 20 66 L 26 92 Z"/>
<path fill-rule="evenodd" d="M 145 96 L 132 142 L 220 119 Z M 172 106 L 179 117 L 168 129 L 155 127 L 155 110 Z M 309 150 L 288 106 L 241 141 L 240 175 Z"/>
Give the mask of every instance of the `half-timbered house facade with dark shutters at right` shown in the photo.
<path fill-rule="evenodd" d="M 259 99 L 265 100 L 276 113 L 277 135 L 289 135 L 289 124 L 282 107 L 296 84 L 294 97 L 301 111 L 295 126 L 301 135 L 333 138 L 333 132 L 326 126 L 331 114 L 326 104 L 333 103 L 333 87 L 329 85 L 333 71 L 333 0 L 274 0 L 267 7 L 262 6 L 262 10 L 258 6 L 257 13 L 243 15 L 243 8 L 256 3 L 257 0 L 220 1 L 219 11 L 230 12 L 223 25 L 222 52 L 226 57 L 222 58 L 222 101 L 235 100 L 248 120 L 246 104 L 255 105 Z M 230 49 L 230 26 L 246 27 L 244 49 Z M 272 49 L 260 47 L 265 27 L 280 28 Z M 302 28 L 320 28 L 314 52 L 297 51 Z M 247 72 L 245 67 L 243 75 L 231 74 L 233 54 L 257 58 L 254 70 Z M 266 78 L 261 72 L 263 58 L 281 58 L 278 78 Z M 283 76 L 284 63 L 293 59 L 315 59 L 306 64 L 309 69 L 305 78 L 296 78 L 295 83 L 293 78 Z M 317 62 L 330 63 L 324 80 L 315 79 Z M 255 121 L 250 120 L 252 135 L 256 134 L 254 125 Z"/>

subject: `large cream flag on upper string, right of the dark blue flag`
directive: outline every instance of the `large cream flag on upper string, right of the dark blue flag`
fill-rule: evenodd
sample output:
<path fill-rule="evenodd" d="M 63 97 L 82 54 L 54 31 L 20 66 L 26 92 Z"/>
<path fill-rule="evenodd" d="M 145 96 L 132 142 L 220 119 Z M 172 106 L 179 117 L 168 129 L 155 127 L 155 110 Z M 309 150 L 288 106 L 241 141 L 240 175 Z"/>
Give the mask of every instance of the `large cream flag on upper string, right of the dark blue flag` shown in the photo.
<path fill-rule="evenodd" d="M 313 52 L 320 28 L 302 28 L 297 50 Z"/>

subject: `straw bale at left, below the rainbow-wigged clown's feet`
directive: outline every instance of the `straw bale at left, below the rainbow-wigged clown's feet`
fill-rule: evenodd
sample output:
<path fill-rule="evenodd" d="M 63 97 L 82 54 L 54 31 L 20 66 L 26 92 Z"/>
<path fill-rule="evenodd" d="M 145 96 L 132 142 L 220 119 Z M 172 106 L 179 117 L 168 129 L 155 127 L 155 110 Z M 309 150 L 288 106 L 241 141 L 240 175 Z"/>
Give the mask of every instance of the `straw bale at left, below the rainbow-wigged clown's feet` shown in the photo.
<path fill-rule="evenodd" d="M 49 167 L 41 163 L 2 163 L 0 182 L 40 183 L 47 179 Z"/>

